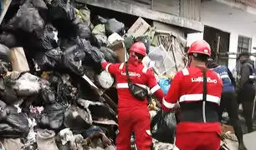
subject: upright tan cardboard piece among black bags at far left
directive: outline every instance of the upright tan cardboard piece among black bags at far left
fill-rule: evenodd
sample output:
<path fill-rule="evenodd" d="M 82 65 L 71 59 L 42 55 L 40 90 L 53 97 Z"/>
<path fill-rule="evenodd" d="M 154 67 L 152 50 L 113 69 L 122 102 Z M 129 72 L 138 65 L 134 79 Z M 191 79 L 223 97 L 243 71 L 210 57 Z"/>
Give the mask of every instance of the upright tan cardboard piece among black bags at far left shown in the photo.
<path fill-rule="evenodd" d="M 10 49 L 10 60 L 12 61 L 13 71 L 28 72 L 28 61 L 23 47 L 13 47 Z"/>

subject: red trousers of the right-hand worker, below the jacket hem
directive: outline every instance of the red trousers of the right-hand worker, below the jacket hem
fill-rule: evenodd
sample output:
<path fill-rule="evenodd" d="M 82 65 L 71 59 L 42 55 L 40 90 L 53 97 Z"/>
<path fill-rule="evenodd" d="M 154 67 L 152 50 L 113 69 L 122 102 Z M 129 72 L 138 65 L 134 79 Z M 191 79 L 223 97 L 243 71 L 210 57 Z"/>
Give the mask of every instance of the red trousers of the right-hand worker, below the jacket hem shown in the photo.
<path fill-rule="evenodd" d="M 180 150 L 219 150 L 221 139 L 218 133 L 180 133 L 176 146 Z"/>

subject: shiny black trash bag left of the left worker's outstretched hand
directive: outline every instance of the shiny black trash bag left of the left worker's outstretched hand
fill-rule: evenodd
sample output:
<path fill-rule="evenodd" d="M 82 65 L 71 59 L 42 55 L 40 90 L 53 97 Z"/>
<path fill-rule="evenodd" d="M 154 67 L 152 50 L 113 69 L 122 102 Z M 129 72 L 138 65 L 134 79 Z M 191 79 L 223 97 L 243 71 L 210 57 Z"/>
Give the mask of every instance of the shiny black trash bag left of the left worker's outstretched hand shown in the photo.
<path fill-rule="evenodd" d="M 82 66 L 82 62 L 84 57 L 85 52 L 79 45 L 68 47 L 64 51 L 64 66 L 77 75 L 83 75 L 84 67 Z"/>

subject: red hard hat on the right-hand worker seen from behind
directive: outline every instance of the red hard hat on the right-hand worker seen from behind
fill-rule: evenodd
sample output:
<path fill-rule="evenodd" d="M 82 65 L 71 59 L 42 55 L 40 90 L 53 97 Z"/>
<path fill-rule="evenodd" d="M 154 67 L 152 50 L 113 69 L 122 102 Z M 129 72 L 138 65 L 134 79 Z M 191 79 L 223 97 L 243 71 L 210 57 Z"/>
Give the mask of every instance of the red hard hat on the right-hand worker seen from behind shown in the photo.
<path fill-rule="evenodd" d="M 211 47 L 208 42 L 204 40 L 198 40 L 196 42 L 193 42 L 192 45 L 189 47 L 187 54 L 190 53 L 202 53 L 211 57 Z"/>

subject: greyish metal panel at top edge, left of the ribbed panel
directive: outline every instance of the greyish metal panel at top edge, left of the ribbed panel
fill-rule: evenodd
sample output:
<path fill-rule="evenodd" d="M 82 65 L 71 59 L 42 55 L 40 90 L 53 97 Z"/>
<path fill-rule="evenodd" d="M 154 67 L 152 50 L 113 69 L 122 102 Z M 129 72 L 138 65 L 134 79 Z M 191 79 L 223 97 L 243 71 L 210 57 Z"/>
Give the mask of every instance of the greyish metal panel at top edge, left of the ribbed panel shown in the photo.
<path fill-rule="evenodd" d="M 179 16 L 180 0 L 153 0 L 152 9 L 161 12 Z"/>

